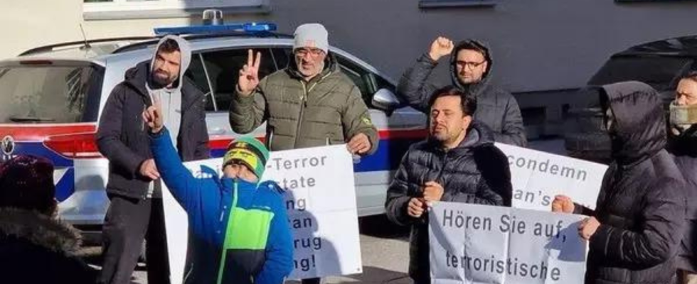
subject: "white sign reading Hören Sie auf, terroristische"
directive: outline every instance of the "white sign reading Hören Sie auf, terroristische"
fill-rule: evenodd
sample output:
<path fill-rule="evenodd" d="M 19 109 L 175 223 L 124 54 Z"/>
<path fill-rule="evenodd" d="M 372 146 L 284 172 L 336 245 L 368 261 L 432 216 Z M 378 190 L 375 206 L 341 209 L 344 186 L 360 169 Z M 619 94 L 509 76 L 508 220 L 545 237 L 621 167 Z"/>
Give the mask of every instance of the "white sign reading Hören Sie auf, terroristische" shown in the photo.
<path fill-rule="evenodd" d="M 429 212 L 432 283 L 582 284 L 584 218 L 437 202 Z"/>

